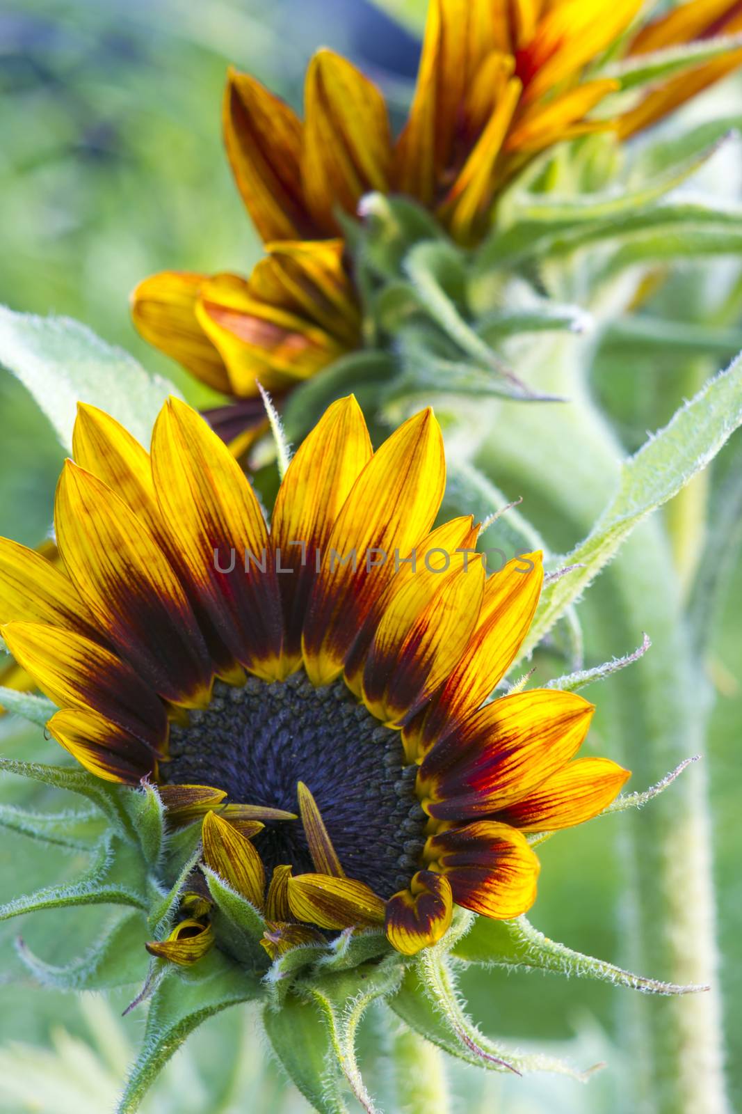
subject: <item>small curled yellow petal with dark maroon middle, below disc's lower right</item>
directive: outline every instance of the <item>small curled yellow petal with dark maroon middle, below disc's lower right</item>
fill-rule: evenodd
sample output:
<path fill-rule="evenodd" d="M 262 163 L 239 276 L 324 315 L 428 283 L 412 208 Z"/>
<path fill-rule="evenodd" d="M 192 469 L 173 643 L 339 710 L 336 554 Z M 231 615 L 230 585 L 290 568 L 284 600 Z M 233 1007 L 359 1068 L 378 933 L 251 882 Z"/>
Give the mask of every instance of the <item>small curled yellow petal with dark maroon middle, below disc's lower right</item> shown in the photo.
<path fill-rule="evenodd" d="M 418 870 L 408 890 L 386 903 L 386 935 L 405 956 L 414 956 L 446 935 L 453 916 L 451 883 L 445 874 Z"/>

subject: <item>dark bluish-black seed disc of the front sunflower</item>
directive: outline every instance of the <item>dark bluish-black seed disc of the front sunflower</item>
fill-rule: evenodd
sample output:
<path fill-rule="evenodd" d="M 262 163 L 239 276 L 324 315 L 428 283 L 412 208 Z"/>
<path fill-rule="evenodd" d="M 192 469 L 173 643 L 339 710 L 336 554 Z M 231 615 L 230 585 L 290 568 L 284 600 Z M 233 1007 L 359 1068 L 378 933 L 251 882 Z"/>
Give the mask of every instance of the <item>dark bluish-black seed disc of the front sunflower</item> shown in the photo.
<path fill-rule="evenodd" d="M 228 801 L 298 814 L 297 782 L 311 791 L 348 878 L 379 897 L 407 886 L 418 867 L 426 818 L 417 768 L 404 765 L 399 733 L 385 727 L 343 681 L 315 688 L 304 671 L 285 682 L 217 682 L 204 712 L 174 725 L 171 784 L 214 785 Z M 269 876 L 289 863 L 314 870 L 300 820 L 271 821 L 254 839 Z"/>

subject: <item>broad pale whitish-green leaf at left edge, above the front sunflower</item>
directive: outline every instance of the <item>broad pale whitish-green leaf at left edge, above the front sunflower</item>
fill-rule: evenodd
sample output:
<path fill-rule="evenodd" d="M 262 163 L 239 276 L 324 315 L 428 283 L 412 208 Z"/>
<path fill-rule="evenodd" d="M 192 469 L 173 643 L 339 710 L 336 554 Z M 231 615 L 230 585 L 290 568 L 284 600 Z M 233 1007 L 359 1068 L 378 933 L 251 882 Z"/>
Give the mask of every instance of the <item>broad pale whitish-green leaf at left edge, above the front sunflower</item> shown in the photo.
<path fill-rule="evenodd" d="M 100 407 L 148 446 L 162 403 L 179 393 L 77 321 L 13 313 L 4 306 L 0 364 L 30 391 L 68 451 L 78 402 Z"/>

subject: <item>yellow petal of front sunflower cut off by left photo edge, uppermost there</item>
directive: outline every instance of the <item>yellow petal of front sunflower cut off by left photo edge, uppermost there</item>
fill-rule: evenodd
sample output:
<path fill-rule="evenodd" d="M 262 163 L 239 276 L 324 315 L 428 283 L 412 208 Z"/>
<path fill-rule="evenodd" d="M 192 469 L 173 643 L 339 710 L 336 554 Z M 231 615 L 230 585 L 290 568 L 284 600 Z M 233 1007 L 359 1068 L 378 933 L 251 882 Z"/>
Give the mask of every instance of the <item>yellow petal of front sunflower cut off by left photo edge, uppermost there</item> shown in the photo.
<path fill-rule="evenodd" d="M 0 538 L 0 623 L 70 627 L 92 637 L 95 620 L 70 578 L 36 549 Z"/>

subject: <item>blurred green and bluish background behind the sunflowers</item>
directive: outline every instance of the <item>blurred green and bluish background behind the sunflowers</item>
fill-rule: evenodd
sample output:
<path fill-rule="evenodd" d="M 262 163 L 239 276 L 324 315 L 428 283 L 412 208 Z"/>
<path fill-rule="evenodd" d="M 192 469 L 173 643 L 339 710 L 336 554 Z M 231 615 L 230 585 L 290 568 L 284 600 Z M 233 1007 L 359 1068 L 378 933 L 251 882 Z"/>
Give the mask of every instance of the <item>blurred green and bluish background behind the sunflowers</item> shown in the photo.
<path fill-rule="evenodd" d="M 395 4 L 389 0 L 385 7 Z M 407 27 L 414 28 L 421 3 L 396 7 L 405 9 Z M 363 0 L 6 0 L 0 13 L 0 302 L 78 317 L 105 340 L 135 352 L 148 368 L 177 379 L 192 401 L 204 401 L 192 381 L 139 340 L 128 295 L 137 281 L 165 267 L 249 270 L 259 246 L 221 148 L 226 66 L 234 62 L 256 74 L 298 106 L 306 59 L 320 43 L 359 60 L 384 85 L 395 109 L 404 105 L 416 63 L 414 33 L 395 30 Z M 738 110 L 740 106 L 742 98 Z M 726 111 L 732 108 L 728 105 Z M 673 292 L 682 300 L 681 286 L 671 286 L 665 297 L 672 301 Z M 598 362 L 595 390 L 629 449 L 670 417 L 677 393 L 674 377 L 671 363 L 650 364 L 641 353 L 630 368 L 615 367 L 610 352 Z M 0 371 L 0 534 L 30 545 L 47 534 L 60 459 L 46 420 L 23 389 Z M 555 548 L 576 540 L 564 536 L 563 524 L 550 521 L 547 508 L 524 509 Z M 742 881 L 734 776 L 742 722 L 741 596 L 738 568 L 711 639 L 720 692 L 704 761 L 714 807 L 729 1066 L 742 1106 Z M 591 737 L 601 753 L 600 691 L 590 695 L 598 703 Z M 16 756 L 55 756 L 53 744 L 10 720 L 0 722 L 0 747 Z M 2 789 L 3 800 L 17 803 L 43 797 L 10 781 Z M 59 807 L 59 794 L 52 807 Z M 532 915 L 553 938 L 606 959 L 620 954 L 616 829 L 622 821 L 601 821 L 544 847 Z M 29 849 L 19 837 L 3 833 L 6 898 L 76 867 L 61 853 Z M 13 951 L 19 931 L 50 961 L 81 952 L 86 940 L 66 934 L 65 917 L 42 913 L 33 924 L 11 922 L 0 935 L 6 973 L 0 985 L 0 1110 L 9 1114 L 108 1108 L 127 1059 L 126 1042 L 136 1040 L 141 1028 L 136 1015 L 122 1029 L 113 1020 L 125 996 L 115 998 L 113 1013 L 100 1001 L 81 1009 L 72 997 L 41 991 L 22 975 Z M 91 910 L 87 921 L 92 938 L 100 916 Z M 453 1088 L 459 1108 L 623 1114 L 621 1081 L 632 1068 L 614 1042 L 616 999 L 629 991 L 537 975 L 481 973 L 465 978 L 464 986 L 488 1034 L 522 1046 L 554 1042 L 580 1066 L 604 1059 L 609 1067 L 587 1088 L 550 1077 L 483 1078 L 456 1068 Z M 646 999 L 643 1008 L 662 1010 L 663 1005 Z M 21 1048 L 19 1040 L 38 1047 Z M 212 1078 L 240 1048 L 241 1075 L 222 1081 L 217 1102 Z M 34 1089 L 37 1077 L 49 1081 L 46 1092 Z M 198 1111 L 209 1095 L 209 1110 L 236 1112 L 247 1108 L 239 1098 L 248 1087 L 255 1114 L 304 1108 L 290 1092 L 280 1096 L 277 1073 L 264 1067 L 263 1051 L 235 1010 L 191 1038 L 148 1108 Z"/>

